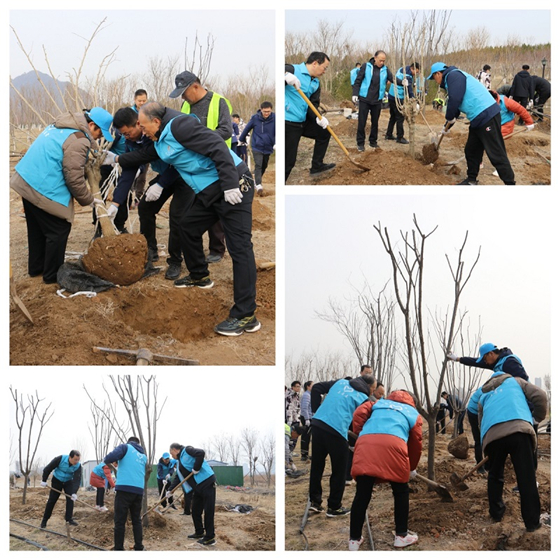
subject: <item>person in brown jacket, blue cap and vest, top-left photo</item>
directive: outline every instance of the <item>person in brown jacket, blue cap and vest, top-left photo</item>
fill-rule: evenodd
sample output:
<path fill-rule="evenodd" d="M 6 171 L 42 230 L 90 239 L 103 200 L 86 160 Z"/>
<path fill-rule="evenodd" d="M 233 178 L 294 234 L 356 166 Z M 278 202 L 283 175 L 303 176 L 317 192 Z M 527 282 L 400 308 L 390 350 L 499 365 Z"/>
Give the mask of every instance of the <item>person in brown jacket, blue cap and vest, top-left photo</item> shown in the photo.
<path fill-rule="evenodd" d="M 64 263 L 74 221 L 74 200 L 81 206 L 94 200 L 84 175 L 90 151 L 102 137 L 113 141 L 113 117 L 105 109 L 62 113 L 41 132 L 10 178 L 10 187 L 23 198 L 29 248 L 29 276 L 54 284 Z M 89 156 L 91 157 L 91 156 Z"/>

